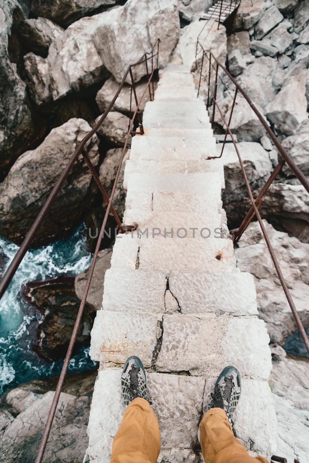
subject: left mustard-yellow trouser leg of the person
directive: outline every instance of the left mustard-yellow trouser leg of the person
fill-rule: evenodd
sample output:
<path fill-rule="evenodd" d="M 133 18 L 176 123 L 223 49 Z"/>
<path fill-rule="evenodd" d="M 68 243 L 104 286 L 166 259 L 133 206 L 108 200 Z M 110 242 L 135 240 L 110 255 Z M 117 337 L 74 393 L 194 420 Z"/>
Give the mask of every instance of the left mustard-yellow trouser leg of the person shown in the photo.
<path fill-rule="evenodd" d="M 114 438 L 111 463 L 156 463 L 160 453 L 157 417 L 147 400 L 132 400 Z"/>

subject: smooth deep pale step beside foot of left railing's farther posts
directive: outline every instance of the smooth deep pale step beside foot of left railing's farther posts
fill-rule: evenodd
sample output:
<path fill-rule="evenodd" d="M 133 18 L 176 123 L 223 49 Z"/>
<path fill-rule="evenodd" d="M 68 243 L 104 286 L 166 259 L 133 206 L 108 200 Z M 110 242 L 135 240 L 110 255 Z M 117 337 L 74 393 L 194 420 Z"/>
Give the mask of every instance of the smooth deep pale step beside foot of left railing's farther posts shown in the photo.
<path fill-rule="evenodd" d="M 150 103 L 150 104 L 149 104 Z M 148 101 L 143 113 L 143 126 L 147 128 L 209 129 L 210 121 L 201 100 Z"/>

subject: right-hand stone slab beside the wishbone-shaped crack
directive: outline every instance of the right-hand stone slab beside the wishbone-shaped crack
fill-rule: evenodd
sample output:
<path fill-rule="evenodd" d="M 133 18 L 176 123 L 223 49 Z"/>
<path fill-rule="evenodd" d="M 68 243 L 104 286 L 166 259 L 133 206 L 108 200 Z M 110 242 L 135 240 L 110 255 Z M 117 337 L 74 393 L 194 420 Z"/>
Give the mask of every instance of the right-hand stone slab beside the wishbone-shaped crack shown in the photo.
<path fill-rule="evenodd" d="M 255 285 L 250 273 L 172 271 L 168 284 L 181 313 L 258 315 Z"/>

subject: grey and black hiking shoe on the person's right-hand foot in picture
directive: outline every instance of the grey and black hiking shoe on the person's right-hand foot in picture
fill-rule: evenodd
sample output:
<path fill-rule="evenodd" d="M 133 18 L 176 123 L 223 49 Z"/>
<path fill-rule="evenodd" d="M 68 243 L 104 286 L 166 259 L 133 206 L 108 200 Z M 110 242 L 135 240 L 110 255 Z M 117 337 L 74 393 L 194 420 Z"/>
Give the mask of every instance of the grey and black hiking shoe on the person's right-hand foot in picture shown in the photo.
<path fill-rule="evenodd" d="M 233 414 L 241 395 L 241 376 L 235 367 L 225 367 L 216 380 L 210 408 L 222 408 L 233 426 Z"/>

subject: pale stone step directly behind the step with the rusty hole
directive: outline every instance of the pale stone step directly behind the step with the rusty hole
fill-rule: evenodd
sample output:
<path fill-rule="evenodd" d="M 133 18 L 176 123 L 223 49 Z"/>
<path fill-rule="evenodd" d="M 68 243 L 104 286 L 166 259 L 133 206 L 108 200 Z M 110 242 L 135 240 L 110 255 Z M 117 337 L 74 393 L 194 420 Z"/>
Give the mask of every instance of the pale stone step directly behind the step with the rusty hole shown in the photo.
<path fill-rule="evenodd" d="M 188 238 L 202 238 L 200 233 L 197 233 L 192 228 L 207 227 L 211 231 L 216 230 L 220 234 L 222 225 L 222 216 L 218 213 L 216 204 L 212 206 L 207 213 L 192 213 L 191 211 L 175 212 L 175 211 L 148 211 L 145 209 L 126 209 L 124 212 L 125 224 L 138 224 L 141 233 L 146 233 L 145 236 L 151 236 L 154 229 L 159 229 L 158 234 L 161 236 L 171 236 L 170 232 L 176 236 L 177 230 L 185 228 Z M 202 226 L 203 224 L 203 226 Z M 168 233 L 168 234 L 167 234 Z"/>

